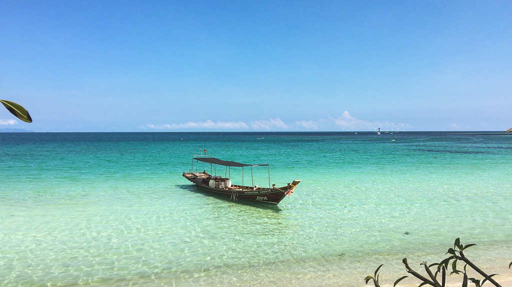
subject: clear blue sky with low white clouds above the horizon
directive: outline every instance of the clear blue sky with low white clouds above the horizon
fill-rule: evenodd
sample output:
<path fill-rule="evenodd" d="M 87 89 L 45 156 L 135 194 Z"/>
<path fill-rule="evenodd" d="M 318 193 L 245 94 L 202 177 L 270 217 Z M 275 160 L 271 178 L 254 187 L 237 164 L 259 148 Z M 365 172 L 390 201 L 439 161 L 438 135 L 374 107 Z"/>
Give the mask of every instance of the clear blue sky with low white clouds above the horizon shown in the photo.
<path fill-rule="evenodd" d="M 1 129 L 502 131 L 512 1 L 0 0 Z"/>

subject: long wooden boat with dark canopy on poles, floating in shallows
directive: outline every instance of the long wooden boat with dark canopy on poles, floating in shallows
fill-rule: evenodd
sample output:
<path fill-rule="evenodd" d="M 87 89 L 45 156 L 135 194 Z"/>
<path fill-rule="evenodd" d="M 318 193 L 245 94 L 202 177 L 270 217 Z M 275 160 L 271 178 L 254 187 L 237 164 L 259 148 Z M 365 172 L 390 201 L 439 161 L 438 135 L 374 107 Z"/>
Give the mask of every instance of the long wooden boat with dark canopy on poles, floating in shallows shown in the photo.
<path fill-rule="evenodd" d="M 206 151 L 206 150 L 205 150 Z M 206 163 L 210 163 L 211 165 L 222 165 L 226 166 L 226 175 L 227 169 L 232 167 L 242 168 L 242 185 L 231 184 L 231 180 L 229 177 L 216 176 L 203 172 L 194 172 L 194 161 L 202 161 Z M 252 178 L 252 167 L 253 166 L 268 166 L 268 185 L 269 187 L 258 187 L 258 185 L 246 186 L 243 183 L 243 174 L 244 168 L 250 166 L 251 170 L 251 178 Z M 210 171 L 210 173 L 212 173 Z M 190 182 L 197 184 L 199 187 L 208 190 L 209 192 L 214 192 L 219 195 L 229 196 L 231 200 L 237 201 L 238 199 L 245 199 L 257 202 L 264 202 L 269 204 L 278 204 L 285 198 L 285 196 L 290 196 L 295 189 L 295 186 L 300 180 L 294 180 L 292 183 L 288 183 L 288 185 L 283 187 L 275 187 L 275 184 L 272 184 L 270 187 L 270 166 L 268 164 L 246 164 L 234 161 L 226 161 L 221 160 L 212 156 L 194 156 L 192 159 L 192 168 L 188 173 L 183 172 L 183 177 L 188 179 Z"/>

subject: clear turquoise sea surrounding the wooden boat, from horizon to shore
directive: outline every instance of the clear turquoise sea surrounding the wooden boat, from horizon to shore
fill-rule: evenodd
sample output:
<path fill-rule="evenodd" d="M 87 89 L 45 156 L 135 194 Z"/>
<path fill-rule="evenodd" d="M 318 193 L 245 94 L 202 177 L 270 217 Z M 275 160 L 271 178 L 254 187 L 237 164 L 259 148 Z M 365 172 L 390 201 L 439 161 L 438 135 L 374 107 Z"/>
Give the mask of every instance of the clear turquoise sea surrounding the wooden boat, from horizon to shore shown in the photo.
<path fill-rule="evenodd" d="M 278 206 L 210 196 L 181 176 L 200 149 L 302 182 Z M 0 133 L 0 174 L 2 286 L 362 286 L 382 263 L 392 283 L 457 237 L 512 260 L 505 133 Z"/>

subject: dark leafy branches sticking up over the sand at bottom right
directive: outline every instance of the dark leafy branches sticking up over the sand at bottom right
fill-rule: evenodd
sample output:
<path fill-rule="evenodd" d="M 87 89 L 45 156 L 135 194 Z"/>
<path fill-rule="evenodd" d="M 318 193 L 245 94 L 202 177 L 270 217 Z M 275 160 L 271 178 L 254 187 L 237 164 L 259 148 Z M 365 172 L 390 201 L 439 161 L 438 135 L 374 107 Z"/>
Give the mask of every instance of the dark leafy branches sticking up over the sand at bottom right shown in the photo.
<path fill-rule="evenodd" d="M 403 265 L 405 265 L 406 270 L 407 270 L 407 272 L 409 274 L 413 275 L 414 277 L 416 277 L 417 279 L 419 279 L 421 281 L 421 283 L 418 285 L 418 287 L 421 287 L 423 285 L 431 285 L 431 286 L 434 286 L 434 287 L 445 287 L 446 270 L 448 270 L 448 267 L 450 266 L 450 262 L 451 262 L 451 266 L 452 266 L 452 270 L 453 270 L 450 273 L 450 275 L 452 275 L 452 274 L 462 274 L 462 287 L 467 287 L 468 281 L 472 282 L 473 284 L 475 284 L 476 287 L 481 287 L 487 281 L 493 283 L 496 287 L 501 287 L 501 285 L 492 278 L 496 274 L 487 275 L 485 272 L 483 272 L 480 268 L 478 268 L 475 264 L 473 264 L 473 262 L 471 262 L 470 259 L 468 259 L 464 255 L 463 251 L 466 248 L 469 248 L 469 247 L 472 247 L 472 246 L 475 246 L 475 245 L 476 244 L 462 245 L 462 244 L 460 244 L 460 238 L 457 238 L 455 240 L 454 247 L 448 249 L 448 252 L 446 252 L 446 255 L 450 254 L 449 257 L 443 259 L 439 263 L 434 263 L 434 264 L 431 264 L 431 265 L 428 265 L 426 263 L 426 261 L 423 261 L 420 264 L 420 266 L 421 265 L 424 266 L 425 272 L 428 275 L 428 278 L 423 276 L 423 275 L 421 275 L 421 274 L 419 274 L 415 270 L 413 270 L 409 266 L 407 258 L 403 258 L 402 263 L 403 263 Z M 457 269 L 457 263 L 459 261 L 464 262 L 463 270 L 458 270 Z M 468 266 L 471 267 L 473 270 L 475 270 L 480 275 L 482 275 L 483 279 L 468 278 L 467 277 L 467 272 L 466 272 Z M 366 281 L 367 284 L 368 284 L 368 282 L 370 280 L 373 280 L 373 283 L 374 283 L 375 287 L 380 287 L 378 271 L 379 271 L 379 269 L 381 267 L 382 267 L 382 265 L 380 265 L 375 270 L 374 276 L 371 276 L 371 275 L 370 276 L 366 276 L 365 281 Z M 431 270 L 432 267 L 435 268 L 434 269 L 435 272 L 432 272 L 432 270 Z M 508 265 L 508 269 L 510 269 L 510 267 L 512 267 L 512 262 L 510 262 L 510 264 Z M 439 280 L 437 278 L 439 274 L 441 275 L 440 278 L 439 278 L 439 280 L 441 280 L 441 282 L 439 282 Z M 396 284 L 398 284 L 398 282 L 400 282 L 402 279 L 407 278 L 407 277 L 409 277 L 409 276 L 403 276 L 403 277 L 398 278 L 398 280 L 396 280 L 395 283 L 393 284 L 393 287 L 395 287 Z"/>

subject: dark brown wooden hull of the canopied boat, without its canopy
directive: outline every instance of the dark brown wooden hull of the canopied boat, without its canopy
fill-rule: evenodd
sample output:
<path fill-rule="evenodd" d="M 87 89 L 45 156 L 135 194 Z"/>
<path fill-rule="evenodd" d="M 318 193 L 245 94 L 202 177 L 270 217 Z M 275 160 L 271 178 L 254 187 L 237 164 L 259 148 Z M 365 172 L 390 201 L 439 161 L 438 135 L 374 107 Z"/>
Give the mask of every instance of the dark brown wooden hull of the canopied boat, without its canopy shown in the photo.
<path fill-rule="evenodd" d="M 291 195 L 291 193 L 293 193 L 295 186 L 300 182 L 294 181 L 292 184 L 287 186 L 274 188 L 254 188 L 241 185 L 232 185 L 229 188 L 217 188 L 211 187 L 205 183 L 212 179 L 212 177 L 207 173 L 201 173 L 199 177 L 197 175 L 197 173 L 183 173 L 184 178 L 208 192 L 230 197 L 231 200 L 234 201 L 244 199 L 267 204 L 279 204 L 287 195 Z"/>

